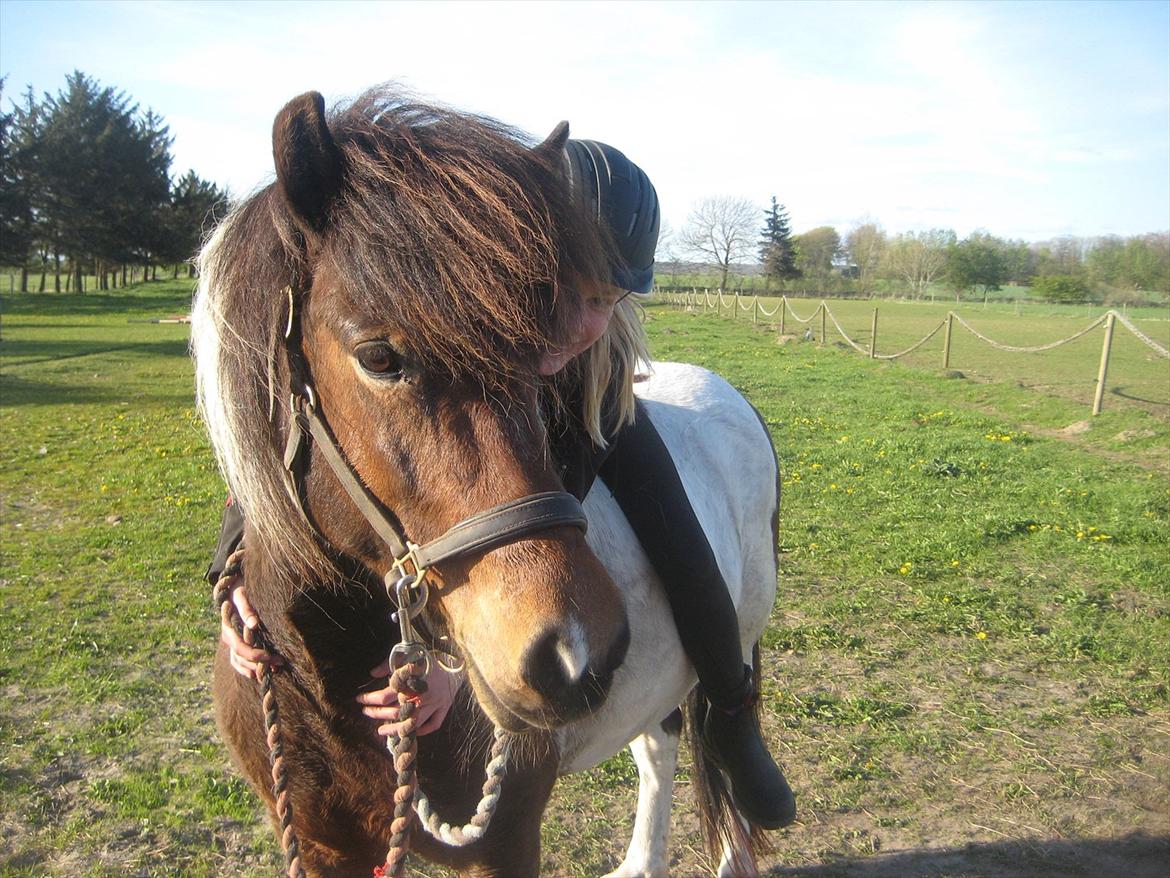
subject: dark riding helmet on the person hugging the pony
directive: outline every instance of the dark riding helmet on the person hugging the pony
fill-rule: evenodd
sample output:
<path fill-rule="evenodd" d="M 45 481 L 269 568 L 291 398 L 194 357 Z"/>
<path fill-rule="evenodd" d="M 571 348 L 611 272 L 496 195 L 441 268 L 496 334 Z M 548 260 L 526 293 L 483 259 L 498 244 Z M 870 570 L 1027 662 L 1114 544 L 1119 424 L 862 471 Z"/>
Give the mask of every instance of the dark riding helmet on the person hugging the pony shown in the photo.
<path fill-rule="evenodd" d="M 597 140 L 566 142 L 565 162 L 573 190 L 589 199 L 598 222 L 610 227 L 618 246 L 620 259 L 610 266 L 611 282 L 649 293 L 659 232 L 654 184 L 620 150 Z"/>

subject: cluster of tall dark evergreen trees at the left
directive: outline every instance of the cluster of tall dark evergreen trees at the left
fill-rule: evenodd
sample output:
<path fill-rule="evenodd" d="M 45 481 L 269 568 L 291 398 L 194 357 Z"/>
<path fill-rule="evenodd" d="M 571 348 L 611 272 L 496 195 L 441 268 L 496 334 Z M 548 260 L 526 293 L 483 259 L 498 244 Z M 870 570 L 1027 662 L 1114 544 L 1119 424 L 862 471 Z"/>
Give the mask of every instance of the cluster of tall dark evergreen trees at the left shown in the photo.
<path fill-rule="evenodd" d="M 0 108 L 0 265 L 19 268 L 21 291 L 37 273 L 40 291 L 51 274 L 58 293 L 160 265 L 178 276 L 227 194 L 193 171 L 172 178 L 172 143 L 161 116 L 81 71 L 56 95 L 29 87 Z"/>

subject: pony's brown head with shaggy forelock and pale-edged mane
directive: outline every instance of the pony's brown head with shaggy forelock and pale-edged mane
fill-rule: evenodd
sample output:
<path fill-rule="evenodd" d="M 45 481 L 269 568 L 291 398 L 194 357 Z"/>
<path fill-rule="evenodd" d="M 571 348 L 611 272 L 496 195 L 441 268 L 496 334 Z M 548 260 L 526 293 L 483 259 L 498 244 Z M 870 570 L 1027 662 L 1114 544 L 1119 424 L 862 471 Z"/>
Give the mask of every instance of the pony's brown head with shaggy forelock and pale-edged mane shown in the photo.
<path fill-rule="evenodd" d="M 298 382 L 415 543 L 560 488 L 536 364 L 607 270 L 562 171 L 566 137 L 562 125 L 534 146 L 385 89 L 328 118 L 311 92 L 276 117 L 276 181 L 204 248 L 193 316 L 200 406 L 249 553 L 274 571 L 249 582 L 266 623 L 281 624 L 269 616 L 295 588 L 344 588 L 339 570 L 380 577 L 392 563 L 316 446 L 302 501 L 290 498 L 282 453 Z M 531 534 L 432 577 L 434 622 L 496 722 L 552 727 L 604 698 L 628 624 L 580 530 Z"/>

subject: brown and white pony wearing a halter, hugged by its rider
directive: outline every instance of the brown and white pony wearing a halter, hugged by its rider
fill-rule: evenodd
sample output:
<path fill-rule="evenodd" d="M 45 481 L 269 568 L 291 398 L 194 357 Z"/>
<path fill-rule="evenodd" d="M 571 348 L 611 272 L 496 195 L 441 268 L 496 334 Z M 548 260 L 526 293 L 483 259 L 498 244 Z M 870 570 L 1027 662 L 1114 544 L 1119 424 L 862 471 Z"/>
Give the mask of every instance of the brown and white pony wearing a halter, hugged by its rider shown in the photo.
<path fill-rule="evenodd" d="M 388 550 L 316 445 L 300 503 L 290 496 L 290 387 L 311 380 L 349 466 L 414 542 L 559 491 L 544 427 L 556 393 L 536 363 L 573 324 L 584 279 L 604 276 L 607 262 L 562 173 L 566 136 L 562 128 L 531 146 L 490 119 L 387 90 L 326 119 L 319 95 L 304 95 L 276 118 L 276 181 L 240 204 L 201 253 L 199 403 L 247 517 L 249 597 L 288 661 L 274 687 L 309 874 L 369 876 L 385 857 L 394 773 L 355 697 L 398 630 L 381 581 Z M 676 457 L 750 649 L 776 589 L 766 433 L 703 370 L 659 364 L 638 392 Z M 613 874 L 666 873 L 677 707 L 694 672 L 603 483 L 585 509 L 587 536 L 556 527 L 431 574 L 426 626 L 457 644 L 470 685 L 442 728 L 419 739 L 422 788 L 445 818 L 466 817 L 493 725 L 526 745 L 514 750 L 482 839 L 449 848 L 414 834 L 419 856 L 463 874 L 536 874 L 557 775 L 631 741 L 638 816 Z M 259 694 L 222 649 L 214 694 L 232 756 L 271 812 Z M 720 872 L 743 873 L 756 836 L 702 753 L 696 768 L 711 786 L 701 805 L 723 846 Z"/>

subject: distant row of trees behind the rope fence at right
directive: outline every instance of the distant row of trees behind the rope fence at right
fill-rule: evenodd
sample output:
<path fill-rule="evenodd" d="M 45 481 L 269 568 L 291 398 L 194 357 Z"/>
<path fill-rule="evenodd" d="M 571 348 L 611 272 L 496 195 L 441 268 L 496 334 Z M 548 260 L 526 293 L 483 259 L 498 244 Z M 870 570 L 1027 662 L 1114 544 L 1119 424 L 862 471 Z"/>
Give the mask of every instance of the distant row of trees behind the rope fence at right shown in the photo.
<path fill-rule="evenodd" d="M 1049 301 L 1124 301 L 1135 291 L 1170 293 L 1170 233 L 1122 238 L 1059 238 L 1026 242 L 985 231 L 959 239 L 951 229 L 888 234 L 870 219 L 842 238 L 832 226 L 792 234 L 773 196 L 764 213 L 746 199 L 707 198 L 682 232 L 669 231 L 663 261 L 690 256 L 714 265 L 720 288 L 744 262 L 758 259 L 765 286 L 794 283 L 819 293 L 874 295 L 879 287 L 921 299 L 945 283 L 956 296 L 1004 284 L 1028 286 Z"/>

